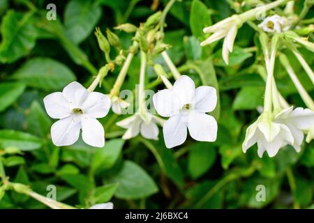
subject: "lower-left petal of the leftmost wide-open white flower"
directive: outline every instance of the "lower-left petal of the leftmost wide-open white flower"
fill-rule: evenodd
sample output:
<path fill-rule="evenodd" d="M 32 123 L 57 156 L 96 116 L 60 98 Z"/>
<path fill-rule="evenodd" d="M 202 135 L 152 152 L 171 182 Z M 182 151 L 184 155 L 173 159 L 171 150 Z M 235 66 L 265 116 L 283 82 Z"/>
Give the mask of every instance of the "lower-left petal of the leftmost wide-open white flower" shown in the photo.
<path fill-rule="evenodd" d="M 55 122 L 51 127 L 51 139 L 56 146 L 70 146 L 80 136 L 80 118 L 69 116 Z"/>

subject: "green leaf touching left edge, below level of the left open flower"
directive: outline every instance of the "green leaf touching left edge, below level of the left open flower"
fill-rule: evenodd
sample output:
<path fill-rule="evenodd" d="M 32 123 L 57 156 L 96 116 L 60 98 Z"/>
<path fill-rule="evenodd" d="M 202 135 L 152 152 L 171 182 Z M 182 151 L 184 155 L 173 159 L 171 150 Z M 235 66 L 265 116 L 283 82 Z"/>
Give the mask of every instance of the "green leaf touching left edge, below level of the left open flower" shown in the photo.
<path fill-rule="evenodd" d="M 21 151 L 33 151 L 40 148 L 43 141 L 26 132 L 0 130 L 0 144 L 3 147 L 14 146 Z"/>

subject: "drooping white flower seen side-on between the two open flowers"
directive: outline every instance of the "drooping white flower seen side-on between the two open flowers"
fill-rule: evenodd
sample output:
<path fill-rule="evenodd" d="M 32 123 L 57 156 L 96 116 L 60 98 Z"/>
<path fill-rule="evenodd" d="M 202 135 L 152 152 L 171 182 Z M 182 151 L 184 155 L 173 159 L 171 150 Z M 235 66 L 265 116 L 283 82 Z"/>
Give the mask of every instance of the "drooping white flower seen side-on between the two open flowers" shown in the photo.
<path fill-rule="evenodd" d="M 146 112 L 145 114 L 134 114 L 116 123 L 121 128 L 127 129 L 122 139 L 130 139 L 136 137 L 139 133 L 146 139 L 158 140 L 158 127 L 156 123 L 163 125 L 160 118 Z"/>

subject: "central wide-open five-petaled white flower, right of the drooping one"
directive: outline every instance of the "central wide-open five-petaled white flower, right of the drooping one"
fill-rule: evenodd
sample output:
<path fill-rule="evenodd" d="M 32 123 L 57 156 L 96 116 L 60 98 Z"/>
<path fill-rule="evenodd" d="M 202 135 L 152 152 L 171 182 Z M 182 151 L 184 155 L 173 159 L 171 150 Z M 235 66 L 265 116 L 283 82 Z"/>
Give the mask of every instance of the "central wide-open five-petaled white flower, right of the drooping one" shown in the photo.
<path fill-rule="evenodd" d="M 182 75 L 172 89 L 158 91 L 153 96 L 154 106 L 160 116 L 170 117 L 163 125 L 163 137 L 167 148 L 179 146 L 186 141 L 187 130 L 197 141 L 215 141 L 217 122 L 206 112 L 215 109 L 216 89 L 195 84 L 190 77 Z"/>

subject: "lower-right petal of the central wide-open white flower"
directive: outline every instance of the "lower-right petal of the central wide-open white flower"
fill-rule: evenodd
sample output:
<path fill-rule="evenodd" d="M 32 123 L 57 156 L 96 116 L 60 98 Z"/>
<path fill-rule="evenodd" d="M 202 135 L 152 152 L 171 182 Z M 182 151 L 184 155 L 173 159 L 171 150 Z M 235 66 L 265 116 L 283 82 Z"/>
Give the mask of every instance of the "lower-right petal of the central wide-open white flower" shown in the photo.
<path fill-rule="evenodd" d="M 193 121 L 188 122 L 188 132 L 197 141 L 216 141 L 217 122 L 213 116 L 195 112 Z"/>

